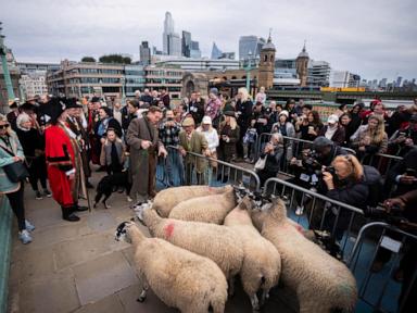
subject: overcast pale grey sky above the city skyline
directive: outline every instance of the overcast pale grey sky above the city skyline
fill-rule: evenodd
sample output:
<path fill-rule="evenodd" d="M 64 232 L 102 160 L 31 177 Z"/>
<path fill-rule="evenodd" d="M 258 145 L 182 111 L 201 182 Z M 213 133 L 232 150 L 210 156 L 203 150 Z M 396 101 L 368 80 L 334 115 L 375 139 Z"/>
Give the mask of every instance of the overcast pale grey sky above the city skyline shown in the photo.
<path fill-rule="evenodd" d="M 238 52 L 239 36 L 267 37 L 277 58 L 295 58 L 304 39 L 311 59 L 363 78 L 417 77 L 416 0 L 0 0 L 5 43 L 20 62 L 59 62 L 162 50 L 165 12 L 175 32 L 191 32 L 203 55 L 213 41 Z M 238 55 L 238 53 L 237 53 Z"/>

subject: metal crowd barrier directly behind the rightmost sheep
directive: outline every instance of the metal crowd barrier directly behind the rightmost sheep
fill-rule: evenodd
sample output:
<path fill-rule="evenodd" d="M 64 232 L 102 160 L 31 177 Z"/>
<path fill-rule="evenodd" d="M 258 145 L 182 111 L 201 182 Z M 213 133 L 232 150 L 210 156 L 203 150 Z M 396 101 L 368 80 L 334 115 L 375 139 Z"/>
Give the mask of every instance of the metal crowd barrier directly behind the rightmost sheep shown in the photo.
<path fill-rule="evenodd" d="M 305 189 L 280 178 L 265 183 L 264 196 L 276 195 L 287 204 L 288 216 L 315 230 L 327 230 L 346 260 L 356 238 L 357 224 L 365 224 L 364 211 L 330 199 L 314 190 Z"/>

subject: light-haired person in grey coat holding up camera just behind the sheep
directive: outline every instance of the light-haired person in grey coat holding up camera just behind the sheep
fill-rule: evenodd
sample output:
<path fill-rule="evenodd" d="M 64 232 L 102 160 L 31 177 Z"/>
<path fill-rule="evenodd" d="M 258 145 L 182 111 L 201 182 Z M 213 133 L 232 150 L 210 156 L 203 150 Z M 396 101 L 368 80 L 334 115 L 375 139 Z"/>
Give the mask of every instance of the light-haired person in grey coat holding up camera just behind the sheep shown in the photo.
<path fill-rule="evenodd" d="M 260 176 L 261 187 L 270 177 L 276 177 L 279 171 L 279 164 L 283 154 L 283 139 L 281 134 L 275 133 L 270 137 L 270 141 L 265 145 L 264 152 L 261 158 L 265 160 L 264 168 L 257 171 Z"/>

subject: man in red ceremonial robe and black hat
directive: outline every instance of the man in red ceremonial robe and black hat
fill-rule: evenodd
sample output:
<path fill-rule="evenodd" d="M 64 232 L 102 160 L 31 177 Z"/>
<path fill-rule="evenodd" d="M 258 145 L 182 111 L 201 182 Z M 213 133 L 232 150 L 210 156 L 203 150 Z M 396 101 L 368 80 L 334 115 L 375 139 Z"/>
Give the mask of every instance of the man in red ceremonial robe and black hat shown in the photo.
<path fill-rule="evenodd" d="M 74 108 L 74 104 L 67 105 L 68 103 L 70 101 L 65 104 L 59 99 L 53 99 L 48 104 L 50 120 L 45 130 L 45 153 L 52 197 L 61 205 L 62 218 L 77 222 L 79 217 L 74 212 L 88 210 L 78 205 L 78 198 L 86 198 L 87 190 L 76 136 L 66 124 L 65 110 Z"/>

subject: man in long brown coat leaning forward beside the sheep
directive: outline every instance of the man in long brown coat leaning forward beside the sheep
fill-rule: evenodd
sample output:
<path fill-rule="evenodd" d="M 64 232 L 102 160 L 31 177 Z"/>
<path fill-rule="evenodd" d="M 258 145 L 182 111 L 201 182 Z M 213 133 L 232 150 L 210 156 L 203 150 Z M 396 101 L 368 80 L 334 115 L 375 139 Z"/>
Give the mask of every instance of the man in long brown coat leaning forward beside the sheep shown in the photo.
<path fill-rule="evenodd" d="M 143 118 L 131 120 L 126 139 L 130 146 L 130 198 L 141 203 L 155 192 L 156 159 L 167 152 L 159 139 L 156 124 L 162 118 L 157 107 L 149 108 Z"/>

